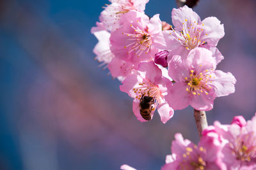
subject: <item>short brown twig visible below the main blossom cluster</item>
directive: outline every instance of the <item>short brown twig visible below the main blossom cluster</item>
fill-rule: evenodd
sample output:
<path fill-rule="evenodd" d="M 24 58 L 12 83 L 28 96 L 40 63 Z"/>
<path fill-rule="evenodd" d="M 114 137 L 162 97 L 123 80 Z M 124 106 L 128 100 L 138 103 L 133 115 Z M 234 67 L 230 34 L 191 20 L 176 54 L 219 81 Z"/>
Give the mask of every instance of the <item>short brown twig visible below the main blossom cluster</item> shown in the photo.
<path fill-rule="evenodd" d="M 194 110 L 194 117 L 199 137 L 202 138 L 202 131 L 208 126 L 205 111 Z"/>

